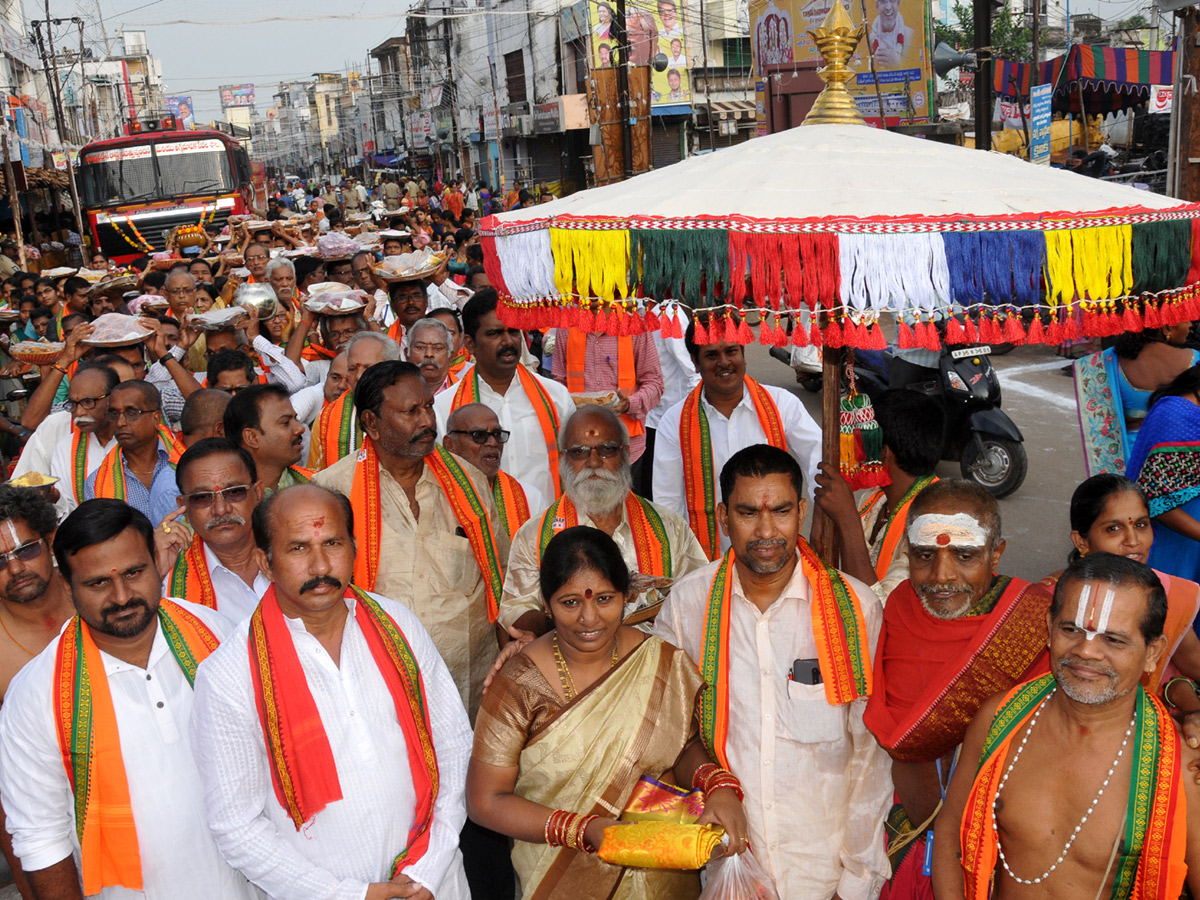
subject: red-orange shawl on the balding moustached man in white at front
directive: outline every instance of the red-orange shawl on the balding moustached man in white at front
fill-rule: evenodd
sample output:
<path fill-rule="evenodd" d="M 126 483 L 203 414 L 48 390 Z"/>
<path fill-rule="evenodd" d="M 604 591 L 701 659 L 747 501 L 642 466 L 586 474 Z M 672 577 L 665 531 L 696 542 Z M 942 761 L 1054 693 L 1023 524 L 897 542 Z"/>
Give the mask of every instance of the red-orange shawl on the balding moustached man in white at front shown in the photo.
<path fill-rule="evenodd" d="M 428 848 L 433 804 L 438 797 L 438 760 L 425 683 L 404 632 L 379 602 L 353 586 L 347 588 L 344 596 L 356 601 L 354 620 L 388 685 L 396 707 L 396 720 L 408 746 L 416 810 L 408 833 L 408 846 L 391 865 L 391 877 L 396 877 Z M 254 701 L 266 743 L 275 797 L 299 832 L 325 806 L 342 799 L 342 785 L 320 710 L 308 689 L 274 584 L 250 618 L 247 644 Z"/>

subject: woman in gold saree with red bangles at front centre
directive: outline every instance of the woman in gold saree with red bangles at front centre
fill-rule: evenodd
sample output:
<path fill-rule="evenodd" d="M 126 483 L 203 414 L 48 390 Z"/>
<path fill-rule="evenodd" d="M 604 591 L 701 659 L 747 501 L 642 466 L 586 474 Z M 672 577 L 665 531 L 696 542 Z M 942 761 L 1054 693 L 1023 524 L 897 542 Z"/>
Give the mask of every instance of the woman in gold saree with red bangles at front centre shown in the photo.
<path fill-rule="evenodd" d="M 695 900 L 695 871 L 625 869 L 595 852 L 638 780 L 704 790 L 701 824 L 746 847 L 740 786 L 700 742 L 703 682 L 688 655 L 622 625 L 634 598 L 612 539 L 557 534 L 541 563 L 553 629 L 524 647 L 484 695 L 467 772 L 470 817 L 516 839 L 522 900 Z"/>

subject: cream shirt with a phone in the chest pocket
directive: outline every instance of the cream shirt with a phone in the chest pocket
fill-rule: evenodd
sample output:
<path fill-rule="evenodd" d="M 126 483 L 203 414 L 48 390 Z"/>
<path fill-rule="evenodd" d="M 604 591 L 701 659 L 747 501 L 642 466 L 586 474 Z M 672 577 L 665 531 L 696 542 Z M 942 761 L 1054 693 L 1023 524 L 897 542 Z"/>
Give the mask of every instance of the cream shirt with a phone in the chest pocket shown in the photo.
<path fill-rule="evenodd" d="M 654 634 L 702 659 L 708 590 L 719 563 L 676 583 Z M 870 649 L 883 607 L 858 595 Z M 892 763 L 863 725 L 866 701 L 830 706 L 823 685 L 788 678 L 792 661 L 816 659 L 811 587 L 802 568 L 767 612 L 745 599 L 733 570 L 730 611 L 730 730 L 726 750 L 745 790 L 750 844 L 787 900 L 871 900 L 890 874 L 883 821 Z"/>

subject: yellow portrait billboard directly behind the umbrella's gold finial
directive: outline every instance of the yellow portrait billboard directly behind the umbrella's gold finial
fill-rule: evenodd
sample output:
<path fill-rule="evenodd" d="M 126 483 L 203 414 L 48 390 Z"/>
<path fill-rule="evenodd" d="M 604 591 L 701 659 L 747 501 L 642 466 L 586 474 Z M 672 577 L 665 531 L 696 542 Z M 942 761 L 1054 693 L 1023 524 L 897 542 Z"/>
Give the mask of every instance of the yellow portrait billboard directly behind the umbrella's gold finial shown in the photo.
<path fill-rule="evenodd" d="M 863 6 L 846 1 L 856 25 Z M 832 0 L 750 0 L 750 49 L 755 74 L 770 66 L 823 65 L 809 31 L 821 26 Z M 928 0 L 865 0 L 869 41 L 858 44 L 850 66 L 856 77 L 846 85 L 863 116 L 880 121 L 880 102 L 887 125 L 928 122 L 932 70 L 930 66 Z M 875 74 L 871 73 L 871 53 Z"/>

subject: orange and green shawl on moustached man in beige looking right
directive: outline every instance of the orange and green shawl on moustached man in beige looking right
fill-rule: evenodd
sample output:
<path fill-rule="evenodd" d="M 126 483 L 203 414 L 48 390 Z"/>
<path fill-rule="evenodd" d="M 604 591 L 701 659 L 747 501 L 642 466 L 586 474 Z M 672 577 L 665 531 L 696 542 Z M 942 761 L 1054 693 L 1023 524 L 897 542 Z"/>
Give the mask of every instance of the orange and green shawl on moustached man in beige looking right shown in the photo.
<path fill-rule="evenodd" d="M 470 551 L 484 576 L 487 618 L 488 622 L 496 622 L 504 572 L 487 509 L 458 460 L 440 444 L 425 457 L 425 464 L 437 479 L 455 520 L 470 541 Z M 359 547 L 354 559 L 354 583 L 364 590 L 373 590 L 379 577 L 379 554 L 383 548 L 383 502 L 379 493 L 379 455 L 371 440 L 364 444 L 354 466 L 350 506 L 354 509 L 354 539 Z"/>

